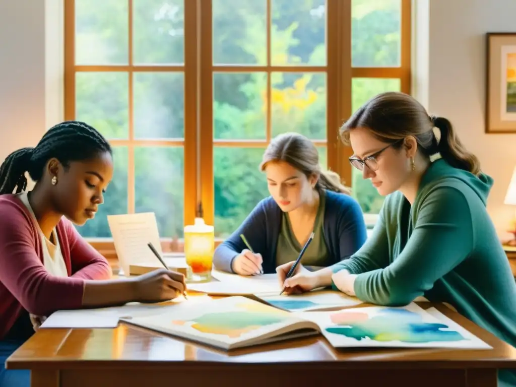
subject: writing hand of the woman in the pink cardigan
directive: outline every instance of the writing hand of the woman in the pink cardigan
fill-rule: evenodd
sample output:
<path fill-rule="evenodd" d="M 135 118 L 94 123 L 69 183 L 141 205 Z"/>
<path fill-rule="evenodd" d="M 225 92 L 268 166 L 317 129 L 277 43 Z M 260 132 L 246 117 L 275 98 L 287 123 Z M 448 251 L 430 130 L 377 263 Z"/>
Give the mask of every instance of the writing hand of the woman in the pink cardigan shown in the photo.
<path fill-rule="evenodd" d="M 161 302 L 174 299 L 186 291 L 185 276 L 176 271 L 157 269 L 132 279 L 134 300 Z"/>

